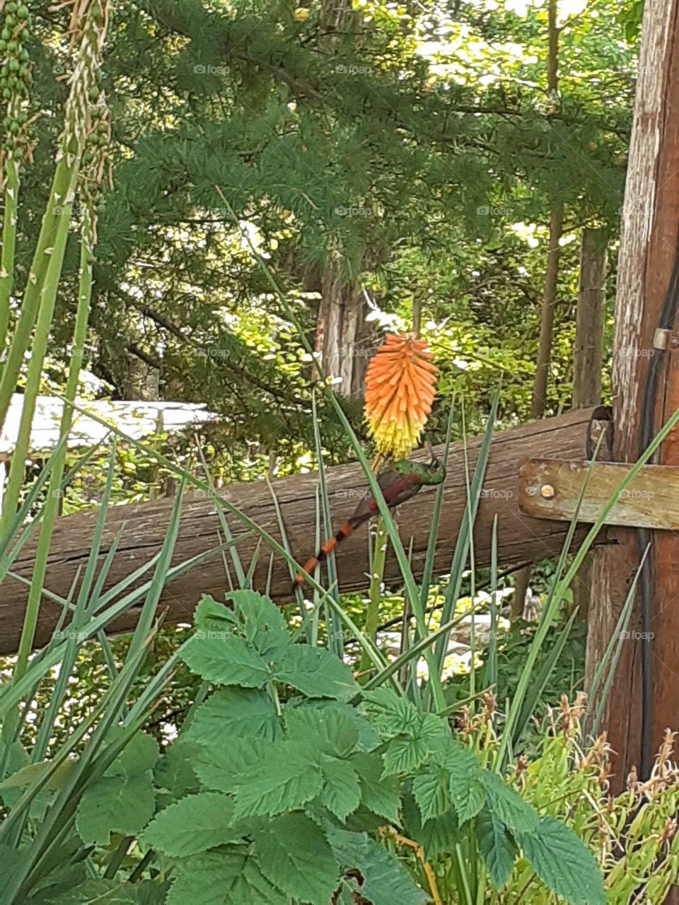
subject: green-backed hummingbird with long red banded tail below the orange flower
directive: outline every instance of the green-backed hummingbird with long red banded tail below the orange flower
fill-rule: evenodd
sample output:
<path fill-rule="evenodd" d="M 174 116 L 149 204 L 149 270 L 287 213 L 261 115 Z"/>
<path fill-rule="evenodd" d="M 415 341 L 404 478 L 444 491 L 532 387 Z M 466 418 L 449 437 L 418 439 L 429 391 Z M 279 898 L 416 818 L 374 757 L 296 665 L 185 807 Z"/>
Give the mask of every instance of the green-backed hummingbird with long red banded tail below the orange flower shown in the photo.
<path fill-rule="evenodd" d="M 427 443 L 429 450 L 429 462 L 410 462 L 409 459 L 399 459 L 392 462 L 378 474 L 378 487 L 383 500 L 389 509 L 395 509 L 402 502 L 410 500 L 421 487 L 433 487 L 445 481 L 445 470 L 441 462 L 436 459 L 431 443 Z M 322 545 L 315 557 L 309 558 L 295 576 L 293 587 L 303 585 L 313 570 L 320 562 L 330 556 L 330 553 L 353 531 L 359 528 L 363 522 L 378 515 L 378 502 L 375 497 L 366 491 L 366 495 L 359 502 L 354 514 L 344 522 L 335 533 Z"/>

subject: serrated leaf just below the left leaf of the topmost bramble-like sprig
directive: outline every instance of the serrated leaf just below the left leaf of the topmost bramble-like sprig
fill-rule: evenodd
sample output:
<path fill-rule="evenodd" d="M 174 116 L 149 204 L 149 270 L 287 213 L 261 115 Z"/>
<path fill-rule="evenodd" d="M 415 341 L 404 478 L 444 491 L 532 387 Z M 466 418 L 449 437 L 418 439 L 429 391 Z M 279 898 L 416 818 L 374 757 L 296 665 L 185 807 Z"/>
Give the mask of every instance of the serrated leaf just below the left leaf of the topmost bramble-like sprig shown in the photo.
<path fill-rule="evenodd" d="M 260 736 L 275 741 L 282 735 L 273 700 L 263 691 L 223 688 L 196 709 L 186 738 L 202 745 L 229 746 L 234 738 Z"/>

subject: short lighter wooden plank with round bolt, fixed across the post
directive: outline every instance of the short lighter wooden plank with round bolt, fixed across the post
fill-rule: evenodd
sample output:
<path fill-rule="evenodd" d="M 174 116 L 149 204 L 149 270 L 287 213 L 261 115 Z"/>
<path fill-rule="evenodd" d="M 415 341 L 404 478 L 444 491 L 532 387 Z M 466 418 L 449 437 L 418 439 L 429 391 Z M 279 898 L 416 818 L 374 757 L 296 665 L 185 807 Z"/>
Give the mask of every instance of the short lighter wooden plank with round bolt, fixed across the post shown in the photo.
<path fill-rule="evenodd" d="M 519 506 L 533 519 L 593 524 L 625 480 L 631 465 L 530 459 L 519 473 Z M 578 509 L 578 500 L 587 490 Z M 679 468 L 645 465 L 606 517 L 607 525 L 679 530 Z"/>

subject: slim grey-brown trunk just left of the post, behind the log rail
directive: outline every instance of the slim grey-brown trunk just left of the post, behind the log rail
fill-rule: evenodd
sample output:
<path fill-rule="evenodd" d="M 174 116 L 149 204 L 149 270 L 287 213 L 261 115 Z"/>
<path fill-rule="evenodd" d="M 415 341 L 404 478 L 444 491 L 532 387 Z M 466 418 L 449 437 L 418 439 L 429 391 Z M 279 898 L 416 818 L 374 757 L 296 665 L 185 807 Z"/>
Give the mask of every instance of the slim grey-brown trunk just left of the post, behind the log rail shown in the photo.
<path fill-rule="evenodd" d="M 603 230 L 583 229 L 580 243 L 580 280 L 573 348 L 573 408 L 599 405 L 604 347 L 607 235 Z M 573 580 L 573 606 L 578 618 L 587 620 L 592 580 L 588 556 Z"/>

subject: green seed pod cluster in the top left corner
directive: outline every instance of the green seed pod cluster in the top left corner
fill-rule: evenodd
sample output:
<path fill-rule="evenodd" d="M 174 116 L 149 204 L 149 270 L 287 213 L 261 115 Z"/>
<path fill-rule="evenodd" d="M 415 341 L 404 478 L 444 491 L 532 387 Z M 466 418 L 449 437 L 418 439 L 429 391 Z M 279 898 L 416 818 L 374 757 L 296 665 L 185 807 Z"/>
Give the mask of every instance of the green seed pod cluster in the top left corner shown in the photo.
<path fill-rule="evenodd" d="M 25 100 L 31 81 L 32 63 L 28 52 L 31 14 L 21 0 L 6 0 L 0 10 L 0 94 L 5 101 L 3 149 L 21 160 L 27 151 Z"/>

